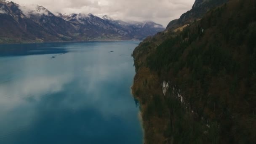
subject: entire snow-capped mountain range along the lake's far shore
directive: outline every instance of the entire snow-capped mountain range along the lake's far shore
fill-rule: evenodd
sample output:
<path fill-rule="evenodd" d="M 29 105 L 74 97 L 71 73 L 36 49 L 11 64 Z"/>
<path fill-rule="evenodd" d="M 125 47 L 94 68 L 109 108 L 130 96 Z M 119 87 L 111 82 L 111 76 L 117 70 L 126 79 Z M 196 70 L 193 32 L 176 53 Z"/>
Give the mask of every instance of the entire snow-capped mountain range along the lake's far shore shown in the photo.
<path fill-rule="evenodd" d="M 142 40 L 163 30 L 152 21 L 131 23 L 91 13 L 55 15 L 43 6 L 0 0 L 0 43 Z"/>

